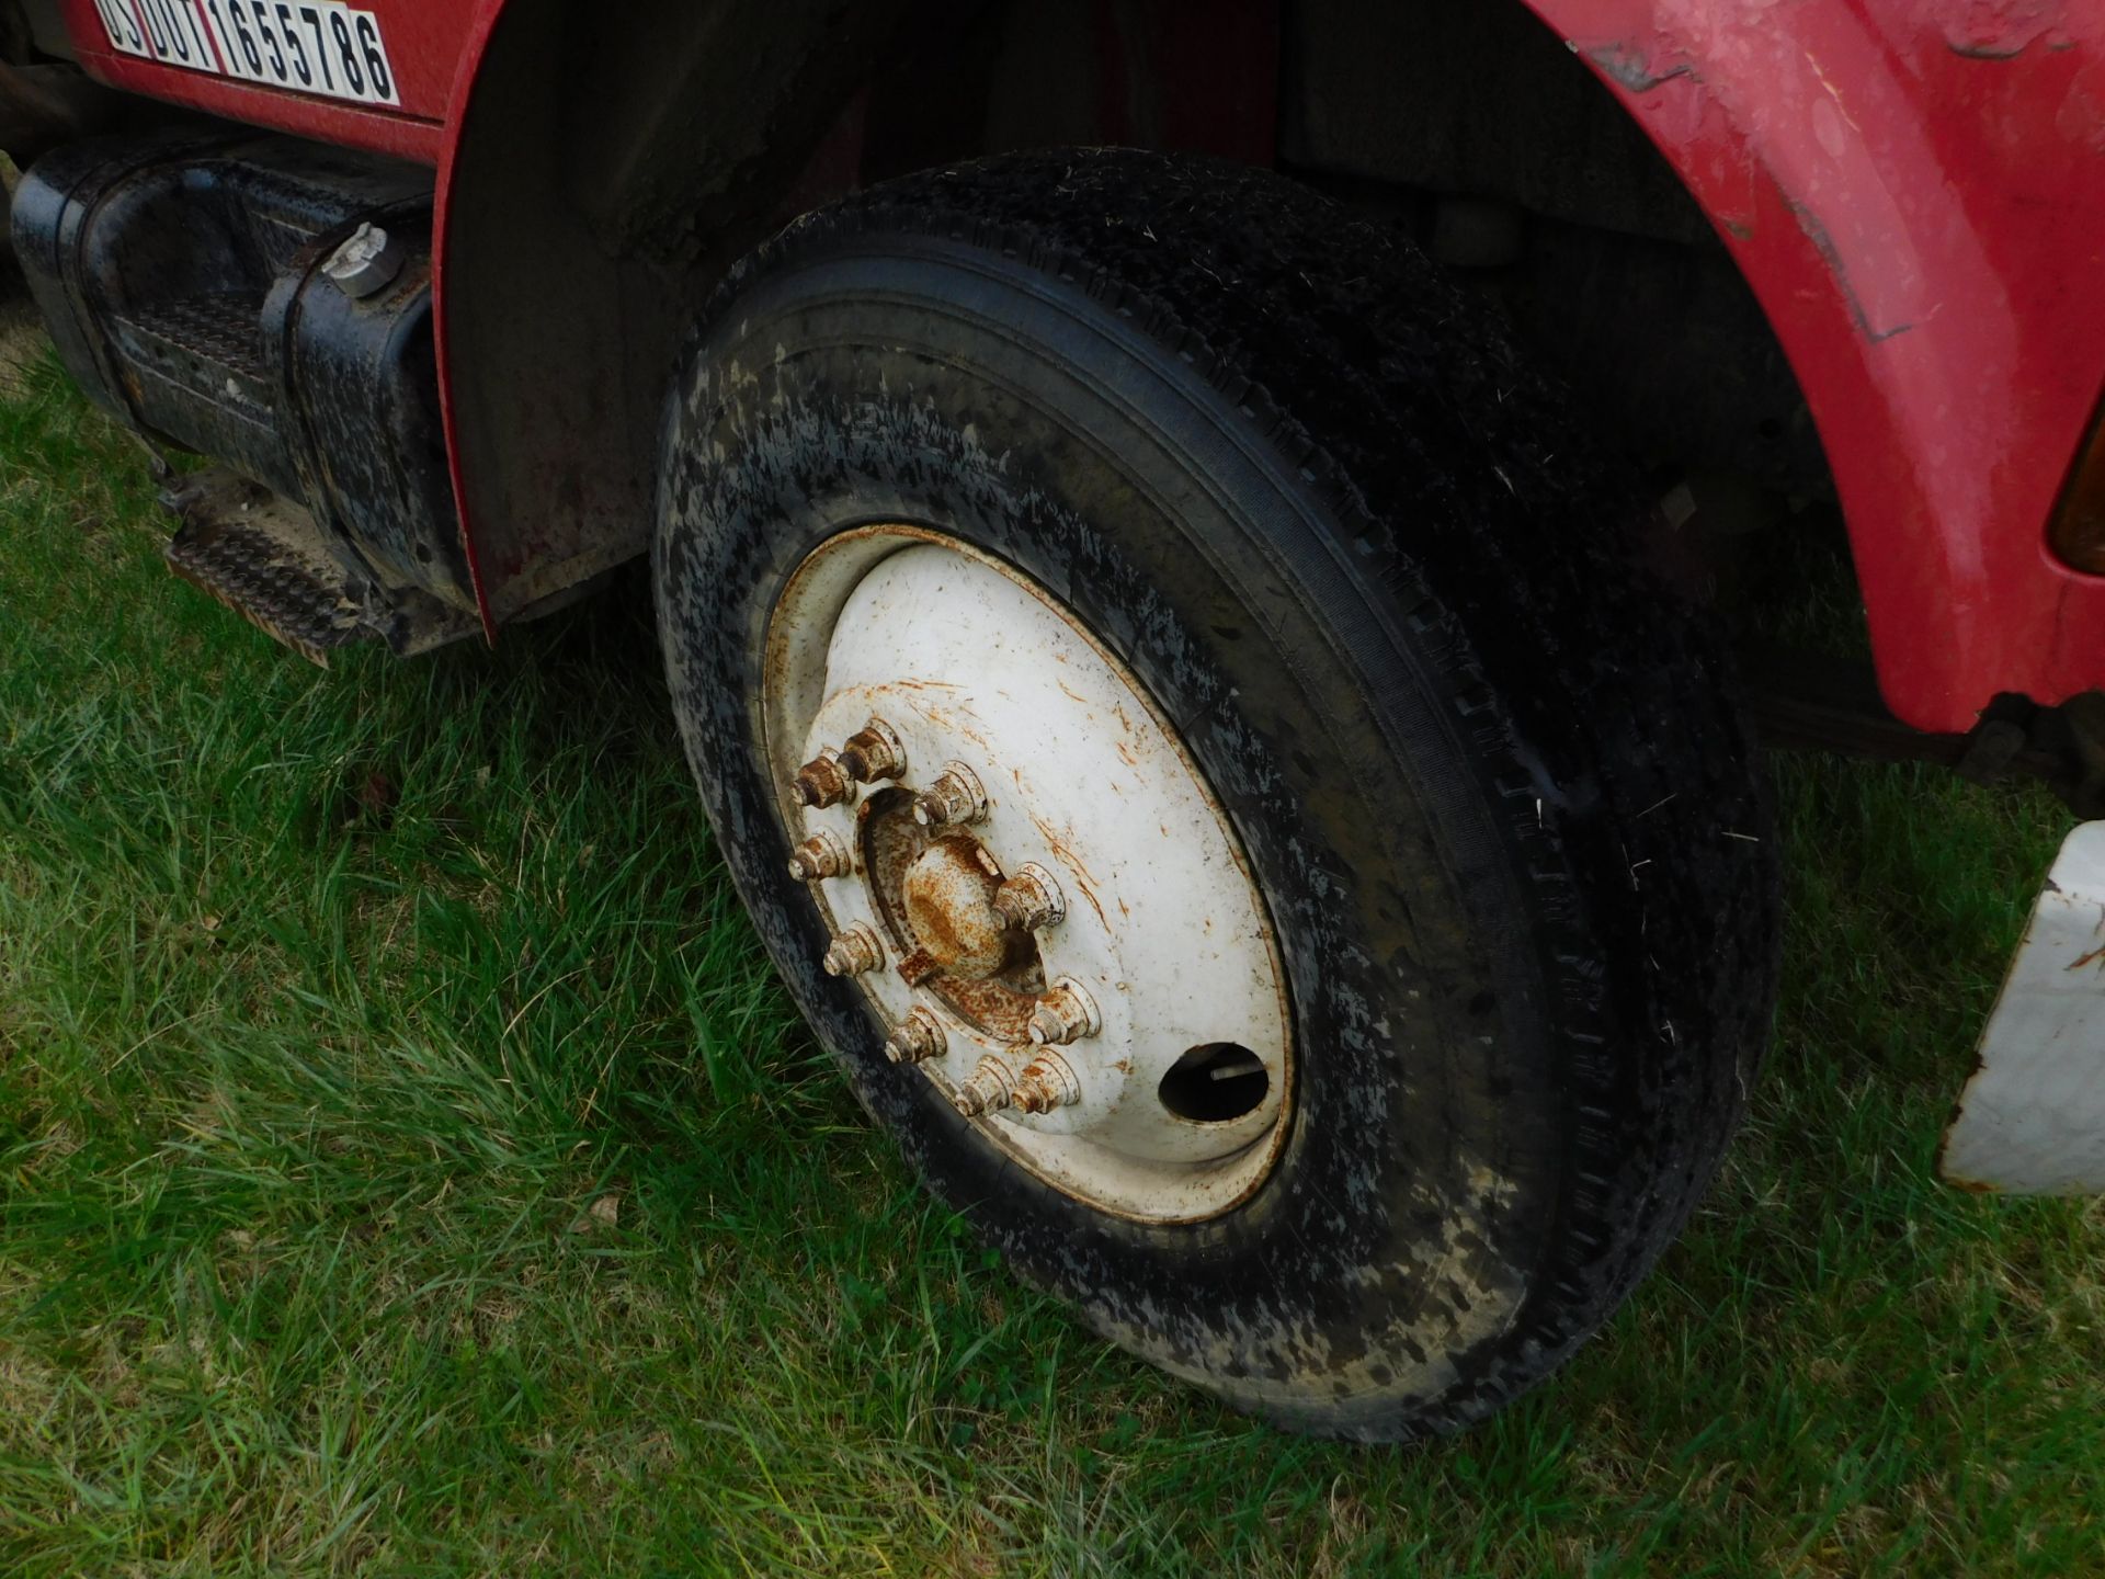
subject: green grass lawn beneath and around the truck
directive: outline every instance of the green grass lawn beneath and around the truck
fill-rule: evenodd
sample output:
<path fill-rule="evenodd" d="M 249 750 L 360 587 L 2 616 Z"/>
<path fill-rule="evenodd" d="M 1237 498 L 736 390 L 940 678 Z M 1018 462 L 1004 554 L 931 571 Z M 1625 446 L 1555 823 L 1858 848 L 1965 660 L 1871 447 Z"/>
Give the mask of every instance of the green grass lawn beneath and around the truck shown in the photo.
<path fill-rule="evenodd" d="M 2067 825 L 1779 764 L 1753 1118 L 1553 1383 L 1227 1415 L 930 1206 L 711 851 L 640 589 L 322 674 L 0 396 L 0 1573 L 2105 1571 L 2105 1217 L 1930 1158 Z"/>

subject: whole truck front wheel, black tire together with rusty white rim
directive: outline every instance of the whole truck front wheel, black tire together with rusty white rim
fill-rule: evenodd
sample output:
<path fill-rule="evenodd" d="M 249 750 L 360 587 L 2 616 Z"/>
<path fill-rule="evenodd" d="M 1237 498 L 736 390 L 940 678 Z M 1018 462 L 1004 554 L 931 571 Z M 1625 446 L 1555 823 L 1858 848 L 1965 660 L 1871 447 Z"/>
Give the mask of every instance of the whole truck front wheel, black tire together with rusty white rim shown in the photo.
<path fill-rule="evenodd" d="M 1629 514 L 1415 251 L 1215 164 L 874 189 L 686 358 L 665 659 L 789 992 L 1025 1278 L 1238 1408 L 1488 1413 L 1732 1128 L 1775 846 Z"/>

